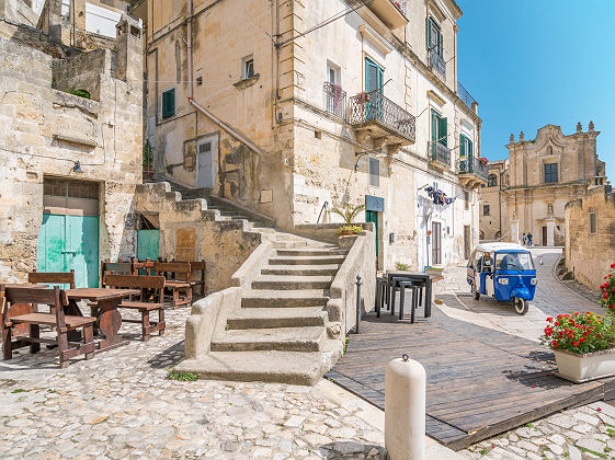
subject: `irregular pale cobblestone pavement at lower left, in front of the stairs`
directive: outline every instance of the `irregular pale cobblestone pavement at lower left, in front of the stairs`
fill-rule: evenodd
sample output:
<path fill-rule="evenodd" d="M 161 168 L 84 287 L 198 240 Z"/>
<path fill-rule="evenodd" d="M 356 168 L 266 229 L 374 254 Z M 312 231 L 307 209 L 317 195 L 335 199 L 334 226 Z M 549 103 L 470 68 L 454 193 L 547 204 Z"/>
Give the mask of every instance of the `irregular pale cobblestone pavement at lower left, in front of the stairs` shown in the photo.
<path fill-rule="evenodd" d="M 169 380 L 187 314 L 168 311 L 167 334 L 147 343 L 129 325 L 129 345 L 66 369 L 54 350 L 0 363 L 0 457 L 384 458 L 381 430 L 330 382 Z"/>

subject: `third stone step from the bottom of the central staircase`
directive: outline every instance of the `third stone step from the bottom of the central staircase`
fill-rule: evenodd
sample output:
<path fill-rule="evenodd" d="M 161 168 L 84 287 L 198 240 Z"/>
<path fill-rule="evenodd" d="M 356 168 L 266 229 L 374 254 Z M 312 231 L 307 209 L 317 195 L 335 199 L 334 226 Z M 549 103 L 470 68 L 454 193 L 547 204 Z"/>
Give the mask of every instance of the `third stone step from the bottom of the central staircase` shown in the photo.
<path fill-rule="evenodd" d="M 328 314 L 322 307 L 293 309 L 247 308 L 227 319 L 230 330 L 324 326 Z"/>

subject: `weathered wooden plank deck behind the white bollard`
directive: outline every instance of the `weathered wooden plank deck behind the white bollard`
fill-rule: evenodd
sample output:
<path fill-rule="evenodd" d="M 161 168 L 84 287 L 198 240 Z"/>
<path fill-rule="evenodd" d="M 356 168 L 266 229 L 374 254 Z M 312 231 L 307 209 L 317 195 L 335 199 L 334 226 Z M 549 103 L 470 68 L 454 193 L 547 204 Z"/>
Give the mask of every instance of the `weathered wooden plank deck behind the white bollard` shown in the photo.
<path fill-rule="evenodd" d="M 439 296 L 448 307 L 458 300 Z M 444 315 L 418 324 L 384 313 L 364 318 L 328 378 L 385 406 L 385 367 L 406 353 L 428 375 L 426 432 L 458 450 L 557 411 L 612 399 L 615 379 L 574 384 L 559 379 L 539 344 Z"/>

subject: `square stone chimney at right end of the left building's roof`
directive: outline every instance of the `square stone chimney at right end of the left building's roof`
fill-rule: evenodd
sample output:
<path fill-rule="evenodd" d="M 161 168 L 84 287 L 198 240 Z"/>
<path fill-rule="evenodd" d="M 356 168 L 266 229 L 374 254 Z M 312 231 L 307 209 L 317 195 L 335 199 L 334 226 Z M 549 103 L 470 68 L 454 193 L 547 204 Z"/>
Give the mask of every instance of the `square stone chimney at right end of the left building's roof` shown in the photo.
<path fill-rule="evenodd" d="M 143 80 L 143 42 L 139 22 L 128 14 L 122 14 L 115 31 L 115 53 L 117 54 L 115 78 L 140 84 Z"/>

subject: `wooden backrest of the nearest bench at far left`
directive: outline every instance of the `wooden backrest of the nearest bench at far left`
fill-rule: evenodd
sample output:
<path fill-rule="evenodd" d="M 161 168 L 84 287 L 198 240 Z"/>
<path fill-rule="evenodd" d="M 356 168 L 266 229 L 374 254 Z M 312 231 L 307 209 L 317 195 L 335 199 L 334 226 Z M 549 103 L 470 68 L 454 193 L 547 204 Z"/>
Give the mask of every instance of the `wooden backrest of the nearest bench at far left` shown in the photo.
<path fill-rule="evenodd" d="M 55 310 L 56 324 L 60 332 L 66 330 L 64 307 L 68 306 L 66 291 L 55 286 L 53 289 L 37 289 L 32 287 L 5 287 L 0 286 L 0 297 L 5 299 L 2 311 L 2 327 L 10 323 L 10 310 L 12 306 L 23 303 L 45 304 Z"/>

